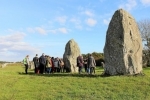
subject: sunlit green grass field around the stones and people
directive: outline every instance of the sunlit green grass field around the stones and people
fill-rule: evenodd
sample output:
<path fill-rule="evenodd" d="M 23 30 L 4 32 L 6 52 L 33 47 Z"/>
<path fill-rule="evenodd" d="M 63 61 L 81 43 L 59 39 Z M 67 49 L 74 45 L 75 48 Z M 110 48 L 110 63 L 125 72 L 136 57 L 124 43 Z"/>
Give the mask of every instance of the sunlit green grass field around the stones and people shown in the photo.
<path fill-rule="evenodd" d="M 150 68 L 141 76 L 102 77 L 55 73 L 24 74 L 24 66 L 0 68 L 0 100 L 150 100 Z"/>

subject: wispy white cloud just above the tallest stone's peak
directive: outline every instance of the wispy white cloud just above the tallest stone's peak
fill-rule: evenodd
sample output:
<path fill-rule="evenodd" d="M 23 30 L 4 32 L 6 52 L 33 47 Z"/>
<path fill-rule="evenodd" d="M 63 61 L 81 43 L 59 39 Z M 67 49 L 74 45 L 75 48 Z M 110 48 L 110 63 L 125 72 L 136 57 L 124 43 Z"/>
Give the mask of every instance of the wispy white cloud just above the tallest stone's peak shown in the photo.
<path fill-rule="evenodd" d="M 128 0 L 127 3 L 120 5 L 119 8 L 124 8 L 124 9 L 130 11 L 136 6 L 137 6 L 136 0 Z"/>

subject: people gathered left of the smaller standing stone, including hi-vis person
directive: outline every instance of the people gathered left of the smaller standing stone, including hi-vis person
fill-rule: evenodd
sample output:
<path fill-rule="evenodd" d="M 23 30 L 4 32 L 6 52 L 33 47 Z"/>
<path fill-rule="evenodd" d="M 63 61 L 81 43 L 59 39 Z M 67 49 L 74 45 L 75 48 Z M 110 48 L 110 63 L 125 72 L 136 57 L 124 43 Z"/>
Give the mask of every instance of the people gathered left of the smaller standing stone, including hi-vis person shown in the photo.
<path fill-rule="evenodd" d="M 33 58 L 34 62 L 34 73 L 45 74 L 45 73 L 54 73 L 54 72 L 64 72 L 64 62 L 62 59 L 50 57 L 44 53 L 38 57 L 38 54 Z M 28 74 L 29 67 L 29 55 L 23 59 L 25 65 L 25 73 Z"/>

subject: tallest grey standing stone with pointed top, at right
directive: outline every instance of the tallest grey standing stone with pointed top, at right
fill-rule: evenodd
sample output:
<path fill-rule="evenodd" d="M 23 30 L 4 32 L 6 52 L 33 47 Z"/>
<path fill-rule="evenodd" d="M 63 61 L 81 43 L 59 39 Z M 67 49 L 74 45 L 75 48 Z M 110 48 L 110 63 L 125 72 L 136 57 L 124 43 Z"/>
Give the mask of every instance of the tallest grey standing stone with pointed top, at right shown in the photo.
<path fill-rule="evenodd" d="M 117 10 L 106 34 L 104 47 L 105 74 L 139 74 L 142 71 L 142 41 L 134 18 Z"/>

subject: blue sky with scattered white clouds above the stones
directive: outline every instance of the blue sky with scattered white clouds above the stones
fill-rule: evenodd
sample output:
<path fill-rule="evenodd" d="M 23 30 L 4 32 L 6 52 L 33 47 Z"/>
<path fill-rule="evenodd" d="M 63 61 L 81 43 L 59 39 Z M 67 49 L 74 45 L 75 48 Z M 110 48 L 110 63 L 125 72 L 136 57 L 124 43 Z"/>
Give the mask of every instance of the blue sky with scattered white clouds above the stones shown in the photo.
<path fill-rule="evenodd" d="M 0 0 L 0 61 L 42 53 L 63 57 L 70 39 L 83 54 L 103 52 L 119 8 L 136 21 L 150 18 L 150 0 Z"/>

